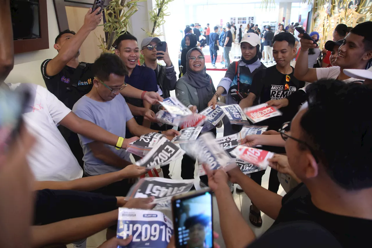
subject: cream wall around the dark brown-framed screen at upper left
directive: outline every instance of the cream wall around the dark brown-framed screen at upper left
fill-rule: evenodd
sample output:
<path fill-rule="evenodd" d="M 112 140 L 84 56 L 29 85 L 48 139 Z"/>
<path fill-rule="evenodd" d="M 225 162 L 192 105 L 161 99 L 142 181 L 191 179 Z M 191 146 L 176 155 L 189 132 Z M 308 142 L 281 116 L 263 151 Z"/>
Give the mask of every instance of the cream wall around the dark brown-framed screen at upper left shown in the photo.
<path fill-rule="evenodd" d="M 14 68 L 6 78 L 6 83 L 35 83 L 45 87 L 41 76 L 41 63 L 47 58 L 54 58 L 57 50 L 53 48 L 58 35 L 57 18 L 52 0 L 47 0 L 49 49 L 15 54 Z"/>

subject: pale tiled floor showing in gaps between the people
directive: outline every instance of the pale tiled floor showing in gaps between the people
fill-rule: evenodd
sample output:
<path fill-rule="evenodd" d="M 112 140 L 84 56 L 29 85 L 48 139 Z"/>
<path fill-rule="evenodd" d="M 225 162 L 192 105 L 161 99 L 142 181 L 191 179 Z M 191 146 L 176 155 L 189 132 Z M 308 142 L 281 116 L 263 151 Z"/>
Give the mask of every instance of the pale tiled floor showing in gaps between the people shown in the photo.
<path fill-rule="evenodd" d="M 209 48 L 208 47 L 204 48 L 203 53 L 205 54 L 205 56 L 209 55 Z M 219 51 L 218 54 L 222 54 L 222 50 Z M 230 53 L 230 58 L 231 58 L 232 61 L 237 61 L 238 56 L 241 56 L 240 47 L 237 44 L 235 44 L 232 47 L 232 50 L 231 50 L 231 53 Z M 262 62 L 263 62 L 263 60 L 262 60 Z M 273 66 L 274 64 L 275 64 L 275 62 L 270 63 L 270 64 L 265 64 L 265 65 L 267 67 L 269 67 L 269 66 Z M 216 66 L 217 66 L 217 68 L 222 68 L 223 67 L 223 65 L 220 64 L 219 61 L 218 61 L 218 63 L 216 63 Z M 206 67 L 207 68 L 213 68 L 211 63 L 206 63 Z M 216 88 L 217 88 L 217 85 L 218 85 L 219 81 L 221 80 L 221 78 L 224 77 L 224 75 L 225 75 L 225 71 L 210 71 L 210 70 L 208 70 L 207 73 L 212 77 L 212 80 L 213 80 L 214 85 L 215 85 Z M 171 95 L 173 95 L 173 94 L 171 94 Z M 223 126 L 221 128 L 217 128 L 217 137 L 222 137 L 222 136 L 223 136 Z M 182 159 L 178 159 L 178 160 L 176 160 L 176 161 L 174 161 L 170 164 L 169 171 L 170 171 L 170 175 L 173 179 L 182 179 L 181 178 L 181 160 Z M 132 162 L 134 162 L 134 160 L 132 160 Z M 269 175 L 270 175 L 270 168 L 267 168 L 266 173 L 262 177 L 262 187 L 264 187 L 264 188 L 267 188 L 268 185 L 269 185 Z M 195 170 L 195 178 L 197 178 L 197 180 L 199 179 L 199 177 L 197 177 L 197 175 L 196 175 L 196 170 Z M 281 195 L 285 194 L 285 191 L 283 190 L 282 186 L 279 187 L 278 193 L 281 194 Z M 243 218 L 250 225 L 250 227 L 252 228 L 252 230 L 256 234 L 256 236 L 262 235 L 262 233 L 264 233 L 272 225 L 274 220 L 271 219 L 266 214 L 263 214 L 263 213 L 261 213 L 262 214 L 262 227 L 261 228 L 256 228 L 255 226 L 251 225 L 251 223 L 249 222 L 249 207 L 251 205 L 250 199 L 247 197 L 247 195 L 245 193 L 237 193 L 236 192 L 236 185 L 234 185 L 234 192 L 232 193 L 232 196 L 234 198 L 234 201 L 235 201 L 238 209 L 241 211 L 241 214 L 242 214 Z M 224 241 L 223 241 L 222 235 L 221 235 L 221 228 L 219 226 L 219 212 L 218 212 L 217 201 L 216 201 L 215 198 L 214 198 L 214 201 L 213 201 L 213 208 L 214 208 L 214 211 L 213 211 L 214 227 L 213 228 L 217 233 L 219 233 L 219 238 L 217 239 L 217 242 L 221 246 L 221 248 L 225 248 L 225 244 L 224 244 Z M 169 216 L 170 218 L 172 218 L 170 211 L 167 211 L 167 212 L 164 212 L 164 213 L 167 216 Z M 87 247 L 88 248 L 98 247 L 105 240 L 106 240 L 106 230 L 103 230 L 99 233 L 96 233 L 93 236 L 90 236 L 87 239 Z M 67 245 L 67 248 L 73 248 L 73 246 L 70 244 L 70 245 Z"/>

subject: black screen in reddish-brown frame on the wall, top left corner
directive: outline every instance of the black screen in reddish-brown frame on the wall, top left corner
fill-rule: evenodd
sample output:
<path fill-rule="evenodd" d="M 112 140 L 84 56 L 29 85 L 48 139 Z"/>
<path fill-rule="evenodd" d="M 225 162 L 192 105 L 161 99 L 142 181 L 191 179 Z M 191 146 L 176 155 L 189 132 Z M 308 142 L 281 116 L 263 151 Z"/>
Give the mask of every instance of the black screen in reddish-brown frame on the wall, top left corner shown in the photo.
<path fill-rule="evenodd" d="M 11 0 L 14 52 L 49 48 L 47 0 Z"/>

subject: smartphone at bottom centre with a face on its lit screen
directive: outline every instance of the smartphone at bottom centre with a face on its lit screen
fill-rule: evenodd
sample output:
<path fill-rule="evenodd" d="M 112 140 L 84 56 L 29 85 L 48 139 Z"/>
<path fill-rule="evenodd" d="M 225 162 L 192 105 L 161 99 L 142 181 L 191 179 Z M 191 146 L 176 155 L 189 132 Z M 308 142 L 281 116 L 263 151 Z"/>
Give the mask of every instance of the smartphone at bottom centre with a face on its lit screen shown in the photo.
<path fill-rule="evenodd" d="M 172 198 L 177 248 L 213 247 L 212 191 L 205 188 Z"/>

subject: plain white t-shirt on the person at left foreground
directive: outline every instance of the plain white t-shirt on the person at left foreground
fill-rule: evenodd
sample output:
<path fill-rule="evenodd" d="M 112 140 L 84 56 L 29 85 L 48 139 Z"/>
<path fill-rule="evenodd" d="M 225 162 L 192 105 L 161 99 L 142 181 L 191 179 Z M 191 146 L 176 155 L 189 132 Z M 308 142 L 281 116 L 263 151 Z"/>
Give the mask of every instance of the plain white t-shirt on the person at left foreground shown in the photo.
<path fill-rule="evenodd" d="M 71 110 L 40 85 L 10 85 L 13 90 L 20 87 L 28 87 L 32 95 L 23 120 L 28 131 L 36 138 L 28 155 L 28 163 L 36 180 L 69 181 L 81 178 L 83 169 L 57 128 Z"/>

